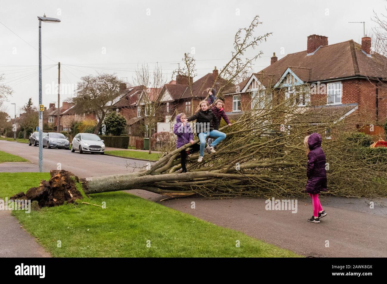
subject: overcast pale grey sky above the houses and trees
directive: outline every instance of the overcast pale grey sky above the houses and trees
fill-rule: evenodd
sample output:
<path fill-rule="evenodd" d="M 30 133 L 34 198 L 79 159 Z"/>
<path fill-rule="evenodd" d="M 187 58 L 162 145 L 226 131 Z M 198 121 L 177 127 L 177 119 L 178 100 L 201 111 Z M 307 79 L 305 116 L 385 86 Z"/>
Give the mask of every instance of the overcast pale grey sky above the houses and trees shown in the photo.
<path fill-rule="evenodd" d="M 75 85 L 80 77 L 101 71 L 132 82 L 138 63 L 154 68 L 157 61 L 170 78 L 177 67 L 172 63 L 194 51 L 198 74 L 205 75 L 226 63 L 238 28 L 260 15 L 263 24 L 256 34 L 273 34 L 246 54 L 264 52 L 255 62 L 254 71 L 259 71 L 270 64 L 273 52 L 280 59 L 306 50 L 310 34 L 327 36 L 329 44 L 361 41 L 363 24 L 348 22 L 365 21 L 370 34 L 373 10 L 384 12 L 385 5 L 381 0 L 1 0 L 0 73 L 14 90 L 5 105 L 11 117 L 13 102 L 17 113 L 29 97 L 38 105 L 37 16 L 44 13 L 62 21 L 42 24 L 43 104 L 48 106 L 57 102 L 57 94 L 47 91 L 46 84 L 57 83 L 58 61 L 64 84 Z M 70 96 L 62 95 L 62 101 Z"/>

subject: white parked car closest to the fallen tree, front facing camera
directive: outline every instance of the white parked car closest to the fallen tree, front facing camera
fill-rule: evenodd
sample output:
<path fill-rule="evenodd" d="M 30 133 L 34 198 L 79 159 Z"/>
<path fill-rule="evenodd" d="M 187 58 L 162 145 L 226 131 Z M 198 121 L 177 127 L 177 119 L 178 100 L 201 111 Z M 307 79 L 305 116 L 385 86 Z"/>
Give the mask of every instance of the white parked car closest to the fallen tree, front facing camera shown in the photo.
<path fill-rule="evenodd" d="M 71 151 L 74 153 L 75 150 L 79 151 L 79 154 L 87 152 L 103 155 L 105 153 L 105 144 L 96 134 L 78 133 L 71 145 Z"/>

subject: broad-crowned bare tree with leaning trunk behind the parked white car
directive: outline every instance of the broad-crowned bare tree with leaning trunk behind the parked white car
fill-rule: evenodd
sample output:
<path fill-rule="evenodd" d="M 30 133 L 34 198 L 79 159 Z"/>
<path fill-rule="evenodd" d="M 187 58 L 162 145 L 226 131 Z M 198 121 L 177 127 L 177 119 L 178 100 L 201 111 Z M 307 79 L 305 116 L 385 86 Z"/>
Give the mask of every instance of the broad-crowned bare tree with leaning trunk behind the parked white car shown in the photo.
<path fill-rule="evenodd" d="M 93 111 L 98 117 L 94 134 L 98 134 L 103 119 L 120 95 L 120 80 L 115 74 L 101 73 L 97 76 L 87 75 L 77 85 L 77 93 L 72 98 L 78 112 Z"/>

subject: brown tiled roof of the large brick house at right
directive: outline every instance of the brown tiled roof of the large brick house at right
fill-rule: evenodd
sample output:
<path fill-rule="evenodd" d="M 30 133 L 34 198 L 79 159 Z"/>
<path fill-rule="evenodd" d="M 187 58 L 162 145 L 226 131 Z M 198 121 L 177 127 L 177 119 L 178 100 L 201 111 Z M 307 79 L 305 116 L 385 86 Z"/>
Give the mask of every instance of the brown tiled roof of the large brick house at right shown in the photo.
<path fill-rule="evenodd" d="M 260 73 L 272 74 L 277 81 L 288 68 L 304 82 L 354 76 L 385 78 L 386 64 L 384 56 L 378 53 L 367 56 L 360 44 L 349 40 L 321 46 L 311 55 L 307 55 L 307 51 L 288 54 Z"/>

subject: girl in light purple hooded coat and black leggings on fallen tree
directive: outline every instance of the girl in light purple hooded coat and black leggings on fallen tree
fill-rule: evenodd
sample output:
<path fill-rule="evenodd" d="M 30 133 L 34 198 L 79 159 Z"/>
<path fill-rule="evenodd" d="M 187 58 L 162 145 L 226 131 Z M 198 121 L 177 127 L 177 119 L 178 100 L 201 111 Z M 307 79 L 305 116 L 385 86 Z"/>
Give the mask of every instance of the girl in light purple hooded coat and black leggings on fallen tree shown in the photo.
<path fill-rule="evenodd" d="M 194 144 L 194 133 L 191 129 L 191 126 L 188 122 L 185 122 L 185 119 L 187 116 L 183 113 L 180 113 L 176 116 L 176 123 L 173 126 L 173 133 L 176 134 L 176 148 L 180 148 L 181 146 L 184 146 L 185 144 L 191 143 L 192 146 L 191 149 L 188 150 L 186 148 L 185 150 L 182 150 L 180 152 L 181 161 L 182 164 L 182 170 L 183 173 L 187 172 L 187 168 L 185 166 L 187 155 L 190 155 L 192 153 L 195 153 L 200 150 L 200 146 L 198 144 Z"/>

